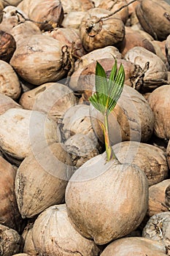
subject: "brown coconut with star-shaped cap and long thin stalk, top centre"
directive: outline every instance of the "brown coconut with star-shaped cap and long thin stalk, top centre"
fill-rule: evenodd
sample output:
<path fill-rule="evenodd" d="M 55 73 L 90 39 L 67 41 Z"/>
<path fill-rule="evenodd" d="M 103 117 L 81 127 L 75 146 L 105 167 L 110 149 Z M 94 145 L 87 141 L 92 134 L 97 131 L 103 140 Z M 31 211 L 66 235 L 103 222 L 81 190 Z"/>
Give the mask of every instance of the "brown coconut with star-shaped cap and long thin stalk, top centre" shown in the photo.
<path fill-rule="evenodd" d="M 117 15 L 101 8 L 89 10 L 80 24 L 82 45 L 88 52 L 116 45 L 125 37 L 125 26 Z M 109 16 L 109 18 L 108 18 Z"/>

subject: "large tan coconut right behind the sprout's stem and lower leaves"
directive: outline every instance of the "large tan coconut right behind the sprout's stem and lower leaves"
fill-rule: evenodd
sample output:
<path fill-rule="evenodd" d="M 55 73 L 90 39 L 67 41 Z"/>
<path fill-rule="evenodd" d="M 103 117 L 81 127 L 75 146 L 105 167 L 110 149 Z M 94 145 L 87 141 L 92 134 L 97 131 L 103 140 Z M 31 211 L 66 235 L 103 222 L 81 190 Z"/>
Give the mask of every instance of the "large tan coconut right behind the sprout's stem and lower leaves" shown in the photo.
<path fill-rule="evenodd" d="M 90 106 L 92 127 L 97 138 L 104 142 L 100 121 L 103 116 Z M 142 94 L 124 86 L 117 105 L 109 115 L 109 135 L 112 145 L 125 140 L 147 142 L 152 135 L 154 116 L 150 105 Z"/>

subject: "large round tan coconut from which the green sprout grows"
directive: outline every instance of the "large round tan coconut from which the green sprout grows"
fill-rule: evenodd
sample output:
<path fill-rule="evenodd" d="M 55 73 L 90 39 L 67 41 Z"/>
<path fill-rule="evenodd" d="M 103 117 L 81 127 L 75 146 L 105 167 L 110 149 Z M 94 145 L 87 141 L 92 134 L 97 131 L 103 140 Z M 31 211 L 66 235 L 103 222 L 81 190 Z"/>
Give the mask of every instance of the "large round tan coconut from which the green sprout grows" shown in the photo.
<path fill-rule="evenodd" d="M 85 162 L 66 187 L 72 225 L 96 244 L 131 233 L 147 211 L 147 178 L 136 165 L 106 162 L 106 152 Z"/>

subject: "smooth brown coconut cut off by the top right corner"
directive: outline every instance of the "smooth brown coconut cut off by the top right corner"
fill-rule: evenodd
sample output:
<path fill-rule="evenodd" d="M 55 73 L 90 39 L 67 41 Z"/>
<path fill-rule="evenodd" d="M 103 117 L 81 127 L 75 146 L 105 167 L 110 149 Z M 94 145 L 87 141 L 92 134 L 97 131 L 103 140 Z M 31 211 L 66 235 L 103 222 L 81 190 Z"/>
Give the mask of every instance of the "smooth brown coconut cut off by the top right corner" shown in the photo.
<path fill-rule="evenodd" d="M 169 36 L 170 5 L 166 1 L 140 1 L 136 6 L 136 15 L 144 31 L 151 34 L 155 40 L 160 39 L 162 41 Z"/>

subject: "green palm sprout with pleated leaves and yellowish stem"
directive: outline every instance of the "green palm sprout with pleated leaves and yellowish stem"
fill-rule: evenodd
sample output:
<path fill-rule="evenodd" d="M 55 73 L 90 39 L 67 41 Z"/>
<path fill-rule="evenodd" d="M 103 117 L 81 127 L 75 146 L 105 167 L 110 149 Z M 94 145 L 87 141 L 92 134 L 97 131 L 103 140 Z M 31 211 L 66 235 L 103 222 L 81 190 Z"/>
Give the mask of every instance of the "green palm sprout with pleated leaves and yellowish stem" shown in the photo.
<path fill-rule="evenodd" d="M 95 87 L 96 92 L 89 98 L 94 108 L 100 111 L 104 115 L 104 124 L 100 122 L 101 128 L 104 132 L 104 142 L 107 152 L 107 161 L 111 159 L 117 159 L 109 140 L 109 113 L 115 108 L 117 100 L 123 91 L 123 84 L 125 81 L 125 71 L 123 65 L 120 64 L 120 68 L 117 70 L 117 60 L 112 67 L 112 71 L 107 79 L 106 72 L 101 64 L 96 63 L 96 76 Z"/>

